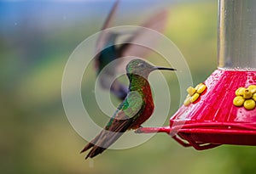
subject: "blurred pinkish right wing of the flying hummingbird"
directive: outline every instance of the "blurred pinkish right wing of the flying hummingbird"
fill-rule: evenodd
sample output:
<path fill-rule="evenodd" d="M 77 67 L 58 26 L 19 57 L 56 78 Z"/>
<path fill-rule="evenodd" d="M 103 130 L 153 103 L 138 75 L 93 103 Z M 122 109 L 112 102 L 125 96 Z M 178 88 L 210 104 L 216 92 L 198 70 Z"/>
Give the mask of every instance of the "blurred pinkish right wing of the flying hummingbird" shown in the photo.
<path fill-rule="evenodd" d="M 161 33 L 166 27 L 167 17 L 168 12 L 163 9 L 149 18 L 142 26 Z M 136 31 L 133 36 L 128 38 L 125 42 L 147 45 L 149 48 L 136 44 L 125 43 L 119 48 L 119 57 L 133 56 L 144 58 L 147 53 L 152 51 L 150 48 L 153 48 L 159 40 L 159 34 L 154 33 L 154 31 L 146 31 L 143 29 Z M 125 66 L 131 61 L 131 59 L 125 59 L 125 61 L 118 67 L 119 72 L 123 72 L 125 70 Z"/>

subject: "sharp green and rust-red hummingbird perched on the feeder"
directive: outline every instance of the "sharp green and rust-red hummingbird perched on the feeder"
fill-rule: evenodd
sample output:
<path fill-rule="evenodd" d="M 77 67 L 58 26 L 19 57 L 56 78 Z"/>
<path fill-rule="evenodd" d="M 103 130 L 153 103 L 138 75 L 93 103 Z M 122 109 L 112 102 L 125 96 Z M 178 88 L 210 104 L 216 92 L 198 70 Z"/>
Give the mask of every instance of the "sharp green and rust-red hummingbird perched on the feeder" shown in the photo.
<path fill-rule="evenodd" d="M 85 159 L 101 154 L 125 131 L 139 128 L 153 114 L 154 101 L 148 83 L 148 75 L 154 70 L 176 69 L 154 66 L 142 59 L 132 59 L 126 65 L 126 76 L 130 81 L 129 92 L 102 132 L 81 151 L 83 153 L 90 149 Z"/>

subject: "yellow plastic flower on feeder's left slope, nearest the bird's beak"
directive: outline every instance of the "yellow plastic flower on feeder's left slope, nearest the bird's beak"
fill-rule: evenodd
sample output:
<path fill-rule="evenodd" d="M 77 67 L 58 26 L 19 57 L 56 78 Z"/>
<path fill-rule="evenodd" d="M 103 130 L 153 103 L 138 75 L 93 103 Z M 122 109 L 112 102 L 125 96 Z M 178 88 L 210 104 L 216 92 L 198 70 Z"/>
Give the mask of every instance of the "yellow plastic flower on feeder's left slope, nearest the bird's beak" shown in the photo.
<path fill-rule="evenodd" d="M 206 90 L 207 86 L 203 83 L 200 83 L 195 88 L 188 87 L 187 92 L 189 93 L 187 98 L 184 101 L 184 105 L 188 106 L 189 104 L 195 103 L 195 101 L 200 97 L 201 93 Z M 256 96 L 255 96 L 256 98 Z"/>

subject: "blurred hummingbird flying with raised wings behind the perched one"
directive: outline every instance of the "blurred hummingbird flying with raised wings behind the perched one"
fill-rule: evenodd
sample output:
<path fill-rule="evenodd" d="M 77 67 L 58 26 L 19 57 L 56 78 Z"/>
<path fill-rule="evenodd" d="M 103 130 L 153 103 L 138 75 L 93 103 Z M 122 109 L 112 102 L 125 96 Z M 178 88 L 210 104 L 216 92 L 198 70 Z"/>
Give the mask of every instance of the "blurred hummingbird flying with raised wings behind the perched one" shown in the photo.
<path fill-rule="evenodd" d="M 145 30 L 137 30 L 133 32 L 112 32 L 106 31 L 113 23 L 114 15 L 117 12 L 119 6 L 119 0 L 113 4 L 113 8 L 110 10 L 100 36 L 96 41 L 96 72 L 99 76 L 101 87 L 109 89 L 120 100 L 124 100 L 128 93 L 128 87 L 115 79 L 117 70 L 125 70 L 125 65 L 131 60 L 125 58 L 118 60 L 121 57 L 133 56 L 137 58 L 143 58 L 151 50 L 142 46 L 132 44 L 131 42 L 147 42 L 149 45 L 154 46 L 157 41 L 157 36 L 152 35 L 152 32 Z M 167 21 L 166 10 L 154 14 L 142 25 L 145 28 L 152 29 L 154 31 L 162 32 L 165 28 Z M 119 46 L 115 45 L 116 39 L 119 36 L 130 35 L 126 38 L 126 41 Z M 113 60 L 117 60 L 114 61 Z M 113 62 L 113 64 L 110 64 Z"/>

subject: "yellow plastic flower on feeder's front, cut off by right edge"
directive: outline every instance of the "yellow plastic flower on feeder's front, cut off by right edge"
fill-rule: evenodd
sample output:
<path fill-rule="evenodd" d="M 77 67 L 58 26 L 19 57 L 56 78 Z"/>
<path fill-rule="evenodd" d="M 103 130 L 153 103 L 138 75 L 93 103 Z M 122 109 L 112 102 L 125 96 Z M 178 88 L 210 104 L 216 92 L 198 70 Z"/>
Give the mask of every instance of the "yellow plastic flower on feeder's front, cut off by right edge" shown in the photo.
<path fill-rule="evenodd" d="M 249 87 L 239 87 L 236 89 L 236 98 L 233 100 L 233 104 L 237 107 L 243 106 L 245 109 L 254 109 L 256 104 L 256 85 L 250 85 Z"/>

